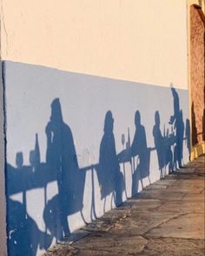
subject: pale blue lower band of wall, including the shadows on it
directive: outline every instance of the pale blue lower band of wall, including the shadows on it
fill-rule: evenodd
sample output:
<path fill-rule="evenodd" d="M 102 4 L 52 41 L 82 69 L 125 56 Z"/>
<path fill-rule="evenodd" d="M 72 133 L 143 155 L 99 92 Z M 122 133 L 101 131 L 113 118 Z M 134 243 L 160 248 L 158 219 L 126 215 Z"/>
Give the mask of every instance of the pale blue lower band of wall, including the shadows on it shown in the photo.
<path fill-rule="evenodd" d="M 40 254 L 188 162 L 188 91 L 3 69 L 10 255 Z"/>

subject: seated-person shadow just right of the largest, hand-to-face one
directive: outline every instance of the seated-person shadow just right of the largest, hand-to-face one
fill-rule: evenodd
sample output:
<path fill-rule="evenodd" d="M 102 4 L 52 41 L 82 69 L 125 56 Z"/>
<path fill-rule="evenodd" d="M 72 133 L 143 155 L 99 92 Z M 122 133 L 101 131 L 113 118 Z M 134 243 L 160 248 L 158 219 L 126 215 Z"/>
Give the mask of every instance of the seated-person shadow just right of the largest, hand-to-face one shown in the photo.
<path fill-rule="evenodd" d="M 104 199 L 104 212 L 106 198 L 112 193 L 115 204 L 122 203 L 123 176 L 116 156 L 116 142 L 113 134 L 114 118 L 112 112 L 107 111 L 104 120 L 104 134 L 100 145 L 99 167 L 97 177 L 101 187 L 101 198 Z M 112 202 L 111 202 L 112 203 Z"/>

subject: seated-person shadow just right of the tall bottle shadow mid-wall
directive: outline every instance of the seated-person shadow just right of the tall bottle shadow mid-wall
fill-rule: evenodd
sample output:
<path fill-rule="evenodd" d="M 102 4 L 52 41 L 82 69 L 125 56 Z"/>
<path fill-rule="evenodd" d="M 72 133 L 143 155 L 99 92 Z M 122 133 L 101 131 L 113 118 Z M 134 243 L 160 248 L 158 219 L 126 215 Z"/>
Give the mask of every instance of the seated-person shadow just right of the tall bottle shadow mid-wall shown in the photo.
<path fill-rule="evenodd" d="M 139 164 L 136 166 L 132 174 L 132 195 L 135 195 L 138 192 L 138 182 L 141 180 L 142 188 L 143 183 L 142 179 L 149 178 L 149 149 L 147 146 L 147 138 L 144 126 L 141 124 L 141 115 L 140 111 L 136 111 L 135 115 L 135 125 L 136 132 L 130 147 L 131 156 L 135 158 L 137 155 L 139 157 Z M 135 166 L 135 165 L 134 165 Z M 134 167 L 135 169 L 135 167 Z M 139 178 L 138 175 L 140 176 Z"/>

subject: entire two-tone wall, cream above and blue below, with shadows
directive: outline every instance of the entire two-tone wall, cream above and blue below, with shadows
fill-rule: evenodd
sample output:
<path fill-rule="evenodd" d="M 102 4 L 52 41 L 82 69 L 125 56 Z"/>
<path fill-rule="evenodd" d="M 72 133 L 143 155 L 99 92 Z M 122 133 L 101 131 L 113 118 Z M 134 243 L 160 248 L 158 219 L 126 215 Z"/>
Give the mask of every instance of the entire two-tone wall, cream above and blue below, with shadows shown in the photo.
<path fill-rule="evenodd" d="M 186 1 L 2 10 L 8 250 L 40 255 L 188 162 Z"/>

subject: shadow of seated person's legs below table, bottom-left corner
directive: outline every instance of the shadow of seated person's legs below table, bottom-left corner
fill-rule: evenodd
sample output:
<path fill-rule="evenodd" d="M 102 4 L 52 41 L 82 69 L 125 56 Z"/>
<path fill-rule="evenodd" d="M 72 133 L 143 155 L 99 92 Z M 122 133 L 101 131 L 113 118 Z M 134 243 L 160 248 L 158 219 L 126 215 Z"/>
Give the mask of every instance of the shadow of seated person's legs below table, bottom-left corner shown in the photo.
<path fill-rule="evenodd" d="M 38 246 L 47 249 L 51 237 L 38 229 L 34 219 L 26 212 L 25 205 L 12 199 L 7 200 L 8 214 L 8 254 L 15 256 L 36 255 Z"/>

